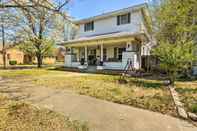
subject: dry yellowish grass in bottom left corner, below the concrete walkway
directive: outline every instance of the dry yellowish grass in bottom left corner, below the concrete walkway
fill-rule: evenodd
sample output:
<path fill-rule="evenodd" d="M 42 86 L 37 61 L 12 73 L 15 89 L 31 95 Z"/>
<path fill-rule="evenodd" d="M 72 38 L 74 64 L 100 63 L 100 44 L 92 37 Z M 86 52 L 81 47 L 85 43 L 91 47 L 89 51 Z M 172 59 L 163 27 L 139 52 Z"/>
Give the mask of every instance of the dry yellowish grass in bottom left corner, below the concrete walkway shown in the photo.
<path fill-rule="evenodd" d="M 88 131 L 86 123 L 71 120 L 48 109 L 10 101 L 0 96 L 0 130 L 4 131 Z"/>

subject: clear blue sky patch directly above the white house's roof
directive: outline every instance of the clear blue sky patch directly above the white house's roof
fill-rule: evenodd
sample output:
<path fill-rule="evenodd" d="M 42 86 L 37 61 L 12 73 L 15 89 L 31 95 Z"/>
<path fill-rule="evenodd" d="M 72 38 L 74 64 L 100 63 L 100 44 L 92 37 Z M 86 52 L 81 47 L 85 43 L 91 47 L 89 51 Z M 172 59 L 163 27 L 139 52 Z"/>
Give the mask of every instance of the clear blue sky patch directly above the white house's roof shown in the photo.
<path fill-rule="evenodd" d="M 144 3 L 145 0 L 72 0 L 68 12 L 76 19 Z"/>

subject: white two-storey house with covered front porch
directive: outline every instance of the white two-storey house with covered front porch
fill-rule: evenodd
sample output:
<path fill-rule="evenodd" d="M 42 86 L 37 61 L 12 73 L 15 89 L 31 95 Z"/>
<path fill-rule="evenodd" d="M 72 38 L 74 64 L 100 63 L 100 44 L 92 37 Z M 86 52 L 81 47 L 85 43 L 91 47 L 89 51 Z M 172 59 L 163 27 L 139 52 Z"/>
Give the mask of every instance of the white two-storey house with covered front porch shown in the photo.
<path fill-rule="evenodd" d="M 123 70 L 131 61 L 136 69 L 146 68 L 152 40 L 146 4 L 74 21 L 73 40 L 64 42 L 65 66 Z"/>

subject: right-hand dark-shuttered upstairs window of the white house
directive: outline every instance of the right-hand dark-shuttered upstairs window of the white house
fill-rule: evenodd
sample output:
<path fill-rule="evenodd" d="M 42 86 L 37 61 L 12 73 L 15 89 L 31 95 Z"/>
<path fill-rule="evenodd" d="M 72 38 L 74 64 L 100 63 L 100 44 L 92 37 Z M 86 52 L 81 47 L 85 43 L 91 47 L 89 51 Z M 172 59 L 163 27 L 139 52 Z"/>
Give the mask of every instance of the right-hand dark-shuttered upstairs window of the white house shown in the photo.
<path fill-rule="evenodd" d="M 131 22 L 131 14 L 124 14 L 117 16 L 117 25 L 129 24 Z"/>

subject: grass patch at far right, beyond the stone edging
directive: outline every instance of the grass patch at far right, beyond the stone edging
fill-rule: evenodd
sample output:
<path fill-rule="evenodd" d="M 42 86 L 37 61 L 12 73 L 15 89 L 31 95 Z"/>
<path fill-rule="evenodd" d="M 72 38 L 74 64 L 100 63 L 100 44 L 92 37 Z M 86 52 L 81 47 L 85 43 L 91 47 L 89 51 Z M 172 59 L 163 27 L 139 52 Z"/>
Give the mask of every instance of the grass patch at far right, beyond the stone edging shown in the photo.
<path fill-rule="evenodd" d="M 176 91 L 189 112 L 197 114 L 197 81 L 177 82 Z"/>

